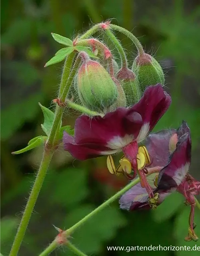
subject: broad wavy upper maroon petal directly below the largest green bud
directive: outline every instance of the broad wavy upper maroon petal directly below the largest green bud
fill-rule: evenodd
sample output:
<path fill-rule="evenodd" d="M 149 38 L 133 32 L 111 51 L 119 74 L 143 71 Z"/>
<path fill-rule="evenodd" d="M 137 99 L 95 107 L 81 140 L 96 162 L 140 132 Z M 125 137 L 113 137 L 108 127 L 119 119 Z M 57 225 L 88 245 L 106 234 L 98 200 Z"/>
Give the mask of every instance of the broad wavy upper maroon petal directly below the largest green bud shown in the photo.
<path fill-rule="evenodd" d="M 138 136 L 142 117 L 134 110 L 117 108 L 104 117 L 80 116 L 76 120 L 74 140 L 80 143 L 96 143 L 106 146 L 114 137 L 123 138 L 126 134 Z"/>

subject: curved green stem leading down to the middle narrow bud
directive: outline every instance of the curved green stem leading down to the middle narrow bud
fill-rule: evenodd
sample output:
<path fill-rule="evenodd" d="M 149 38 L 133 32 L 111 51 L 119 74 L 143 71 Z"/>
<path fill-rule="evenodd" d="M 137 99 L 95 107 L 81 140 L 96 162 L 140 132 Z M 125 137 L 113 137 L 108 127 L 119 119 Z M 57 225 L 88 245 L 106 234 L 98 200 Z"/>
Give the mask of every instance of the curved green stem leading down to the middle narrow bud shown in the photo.
<path fill-rule="evenodd" d="M 127 63 L 127 59 L 126 59 L 126 54 L 124 52 L 124 49 L 122 47 L 122 45 L 120 44 L 119 40 L 116 38 L 116 36 L 110 31 L 110 29 L 105 29 L 104 30 L 105 34 L 108 36 L 108 38 L 110 39 L 110 41 L 114 44 L 114 46 L 116 47 L 116 49 L 119 52 L 120 58 L 121 58 L 121 62 L 122 62 L 122 67 L 123 68 L 127 68 L 128 63 Z"/>

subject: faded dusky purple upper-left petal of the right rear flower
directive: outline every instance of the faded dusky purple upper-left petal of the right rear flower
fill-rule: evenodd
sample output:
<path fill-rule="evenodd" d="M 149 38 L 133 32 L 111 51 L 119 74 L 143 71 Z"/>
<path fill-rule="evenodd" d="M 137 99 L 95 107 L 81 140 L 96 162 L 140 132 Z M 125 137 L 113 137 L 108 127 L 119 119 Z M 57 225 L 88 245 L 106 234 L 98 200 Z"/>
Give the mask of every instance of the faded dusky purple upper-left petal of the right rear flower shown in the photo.
<path fill-rule="evenodd" d="M 169 142 L 175 133 L 175 129 L 161 130 L 160 132 L 150 134 L 142 142 L 153 161 L 150 167 L 166 166 L 168 164 L 171 154 L 169 151 Z"/>

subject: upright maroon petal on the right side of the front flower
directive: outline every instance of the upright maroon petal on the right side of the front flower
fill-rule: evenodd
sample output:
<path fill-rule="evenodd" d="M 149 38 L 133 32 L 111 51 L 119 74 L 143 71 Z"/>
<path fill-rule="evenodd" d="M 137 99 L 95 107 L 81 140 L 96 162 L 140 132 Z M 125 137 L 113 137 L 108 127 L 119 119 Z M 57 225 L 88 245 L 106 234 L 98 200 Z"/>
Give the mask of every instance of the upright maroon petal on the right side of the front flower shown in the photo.
<path fill-rule="evenodd" d="M 140 113 L 144 124 L 149 124 L 149 131 L 151 131 L 168 110 L 171 101 L 170 95 L 163 90 L 162 85 L 157 84 L 148 86 L 143 97 L 131 109 Z"/>

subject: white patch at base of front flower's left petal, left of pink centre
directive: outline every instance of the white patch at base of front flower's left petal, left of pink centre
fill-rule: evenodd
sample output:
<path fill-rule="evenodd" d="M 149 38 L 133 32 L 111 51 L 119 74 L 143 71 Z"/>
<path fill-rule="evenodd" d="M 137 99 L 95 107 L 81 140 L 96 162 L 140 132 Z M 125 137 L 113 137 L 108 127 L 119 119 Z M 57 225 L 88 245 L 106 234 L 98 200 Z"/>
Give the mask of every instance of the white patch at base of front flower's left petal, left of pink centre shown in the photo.
<path fill-rule="evenodd" d="M 114 136 L 111 140 L 109 140 L 108 144 L 106 145 L 108 148 L 112 149 L 121 149 L 124 146 L 128 145 L 130 142 L 134 140 L 133 135 L 126 134 L 124 137 Z"/>

